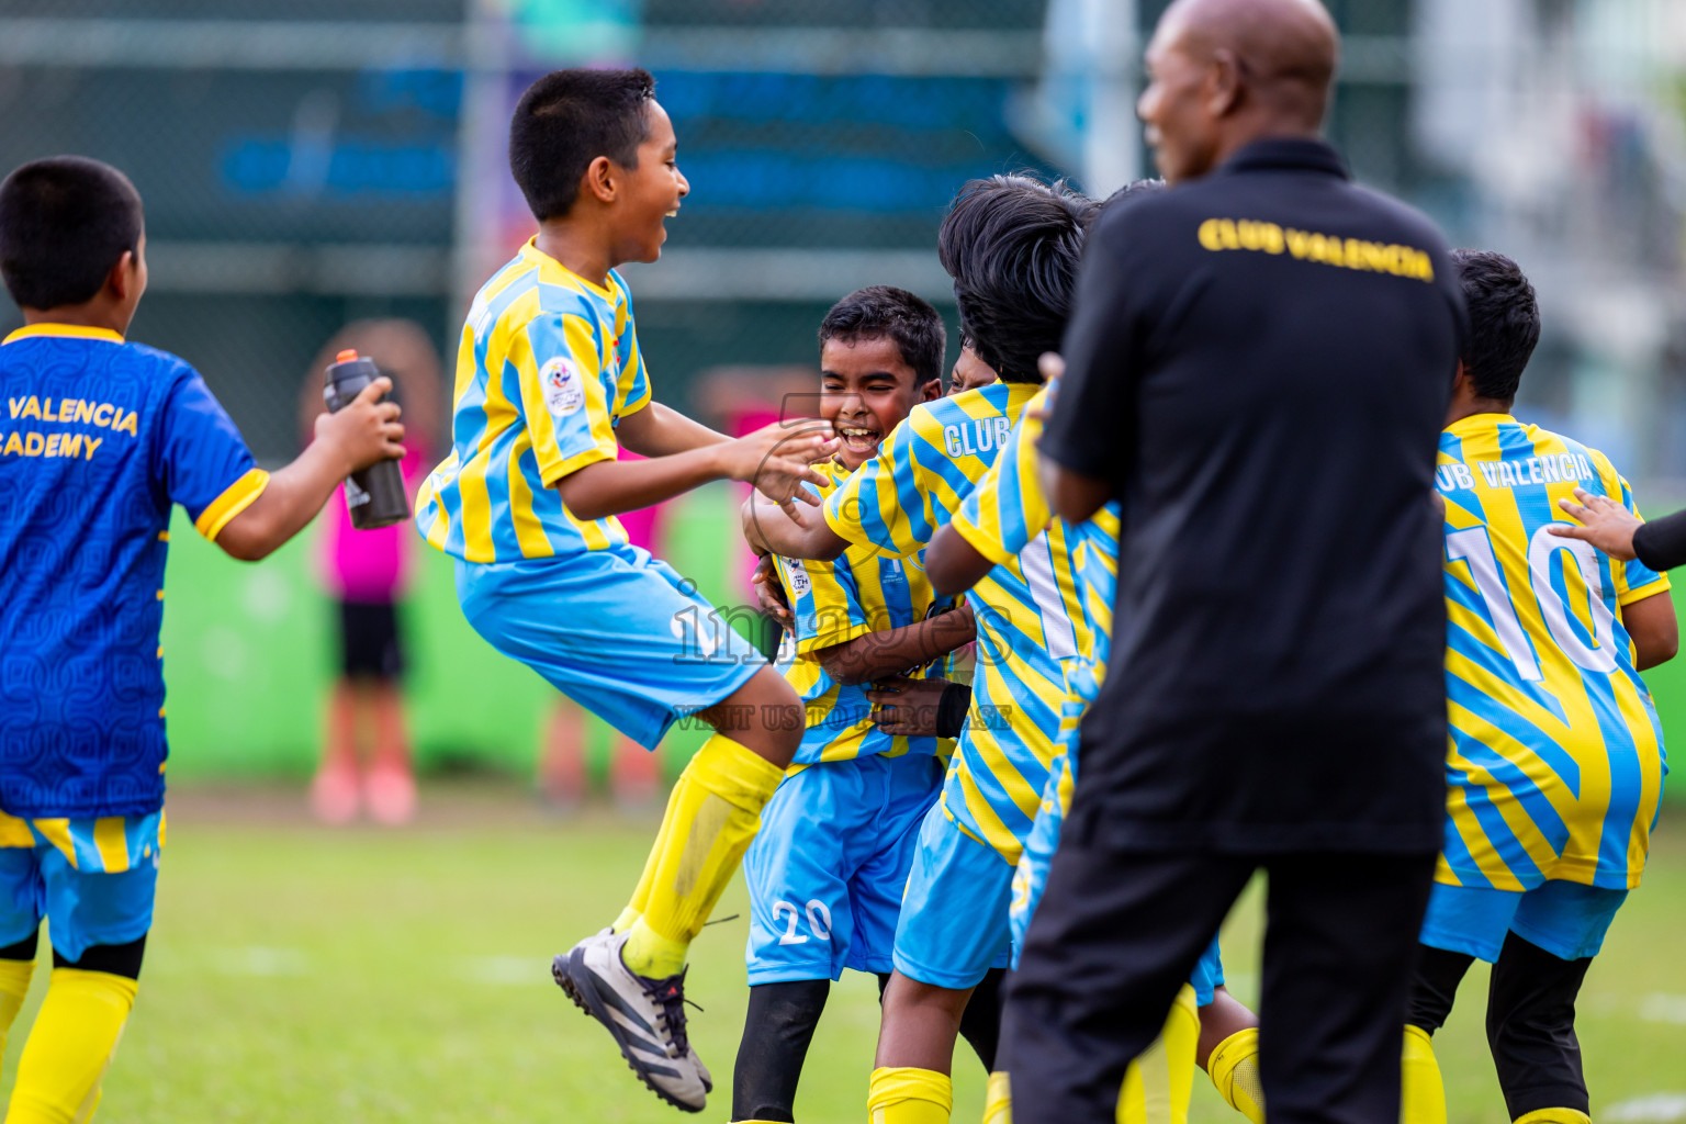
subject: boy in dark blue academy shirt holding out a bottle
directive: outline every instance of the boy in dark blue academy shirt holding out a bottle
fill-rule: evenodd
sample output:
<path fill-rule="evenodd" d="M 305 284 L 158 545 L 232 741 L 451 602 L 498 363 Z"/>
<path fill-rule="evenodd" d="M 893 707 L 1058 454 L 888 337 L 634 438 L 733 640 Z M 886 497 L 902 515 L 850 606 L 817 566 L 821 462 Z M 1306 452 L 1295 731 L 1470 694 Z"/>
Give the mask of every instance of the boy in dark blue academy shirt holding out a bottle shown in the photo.
<path fill-rule="evenodd" d="M 147 288 L 140 195 L 57 157 L 0 184 L 0 1050 L 40 922 L 52 981 L 7 1121 L 86 1121 L 135 1003 L 164 846 L 170 507 L 234 558 L 298 533 L 352 470 L 403 457 L 378 379 L 266 474 L 199 374 L 123 334 Z"/>

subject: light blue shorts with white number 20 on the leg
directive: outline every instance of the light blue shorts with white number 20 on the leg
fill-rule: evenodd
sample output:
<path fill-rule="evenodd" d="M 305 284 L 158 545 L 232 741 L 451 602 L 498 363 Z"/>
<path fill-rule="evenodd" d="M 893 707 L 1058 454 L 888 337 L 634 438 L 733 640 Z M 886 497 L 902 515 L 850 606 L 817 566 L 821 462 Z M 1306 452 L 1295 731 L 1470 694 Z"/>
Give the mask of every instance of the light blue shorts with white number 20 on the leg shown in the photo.
<path fill-rule="evenodd" d="M 941 790 L 929 753 L 821 762 L 779 785 L 744 856 L 750 986 L 890 971 L 919 824 Z"/>

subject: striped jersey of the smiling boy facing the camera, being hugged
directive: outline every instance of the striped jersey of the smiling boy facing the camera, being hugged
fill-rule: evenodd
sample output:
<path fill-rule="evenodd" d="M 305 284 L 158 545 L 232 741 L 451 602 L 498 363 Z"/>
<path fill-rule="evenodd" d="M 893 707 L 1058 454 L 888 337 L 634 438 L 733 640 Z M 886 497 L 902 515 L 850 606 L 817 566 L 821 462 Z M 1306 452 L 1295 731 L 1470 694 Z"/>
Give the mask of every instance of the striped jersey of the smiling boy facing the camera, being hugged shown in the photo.
<path fill-rule="evenodd" d="M 814 465 L 840 484 L 848 468 Z M 870 544 L 851 544 L 835 561 L 774 558 L 784 585 L 796 630 L 784 637 L 776 666 L 796 688 L 806 709 L 808 730 L 796 750 L 794 765 L 843 762 L 882 753 L 934 753 L 936 738 L 892 738 L 872 721 L 870 684 L 843 684 L 826 674 L 819 650 L 846 644 L 870 632 L 887 632 L 917 624 L 934 607 L 946 607 L 917 561 L 880 554 Z M 941 662 L 941 661 L 939 661 Z M 926 667 L 912 669 L 921 679 Z"/>

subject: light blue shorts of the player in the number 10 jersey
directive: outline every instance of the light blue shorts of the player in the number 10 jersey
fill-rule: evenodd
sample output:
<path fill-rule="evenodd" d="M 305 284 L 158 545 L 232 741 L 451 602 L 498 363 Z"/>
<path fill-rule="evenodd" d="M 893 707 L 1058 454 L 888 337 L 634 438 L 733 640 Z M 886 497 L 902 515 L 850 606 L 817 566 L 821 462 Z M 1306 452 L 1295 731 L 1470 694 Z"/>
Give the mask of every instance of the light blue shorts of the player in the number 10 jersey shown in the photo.
<path fill-rule="evenodd" d="M 1423 944 L 1462 952 L 1489 964 L 1499 959 L 1504 935 L 1516 934 L 1561 961 L 1598 955 L 1627 890 L 1602 890 L 1575 881 L 1543 881 L 1533 890 L 1442 886 L 1428 897 Z"/>

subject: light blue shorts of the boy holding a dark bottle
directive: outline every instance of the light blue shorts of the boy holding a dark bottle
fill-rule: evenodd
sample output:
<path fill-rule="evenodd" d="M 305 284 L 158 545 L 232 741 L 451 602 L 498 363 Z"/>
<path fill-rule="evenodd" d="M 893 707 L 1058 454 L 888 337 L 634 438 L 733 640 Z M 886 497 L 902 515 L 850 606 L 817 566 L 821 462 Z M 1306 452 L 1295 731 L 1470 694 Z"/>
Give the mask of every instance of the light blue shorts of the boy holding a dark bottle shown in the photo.
<path fill-rule="evenodd" d="M 78 870 L 56 846 L 0 848 L 0 947 L 13 945 L 47 918 L 52 949 L 83 959 L 96 944 L 128 944 L 152 929 L 158 853 L 116 875 Z"/>

